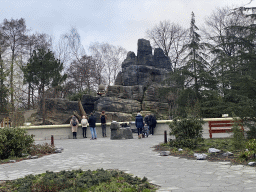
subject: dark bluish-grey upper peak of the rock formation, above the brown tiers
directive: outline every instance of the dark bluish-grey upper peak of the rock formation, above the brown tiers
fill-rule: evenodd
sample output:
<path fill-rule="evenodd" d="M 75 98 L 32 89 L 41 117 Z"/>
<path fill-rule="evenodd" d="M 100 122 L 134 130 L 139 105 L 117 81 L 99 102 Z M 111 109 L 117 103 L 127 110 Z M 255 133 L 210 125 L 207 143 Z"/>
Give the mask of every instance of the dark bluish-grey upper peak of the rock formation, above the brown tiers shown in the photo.
<path fill-rule="evenodd" d="M 128 52 L 115 85 L 148 86 L 152 82 L 163 81 L 170 71 L 172 71 L 171 61 L 164 55 L 163 50 L 157 48 L 152 55 L 150 42 L 139 39 L 137 56 L 134 52 Z"/>

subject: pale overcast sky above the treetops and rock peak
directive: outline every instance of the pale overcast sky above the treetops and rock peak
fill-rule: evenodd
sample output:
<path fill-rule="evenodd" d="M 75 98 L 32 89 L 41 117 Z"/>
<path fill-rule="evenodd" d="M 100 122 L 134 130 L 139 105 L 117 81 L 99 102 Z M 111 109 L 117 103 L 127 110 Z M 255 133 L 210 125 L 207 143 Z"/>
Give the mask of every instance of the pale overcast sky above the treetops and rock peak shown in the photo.
<path fill-rule="evenodd" d="M 93 42 L 137 52 L 137 40 L 163 20 L 189 28 L 191 12 L 200 28 L 216 7 L 244 6 L 250 0 L 0 0 L 0 22 L 26 20 L 34 32 L 59 36 L 76 27 L 85 49 Z M 254 4 L 254 5 L 253 5 Z M 255 5 L 253 1 L 252 4 Z M 248 5 L 248 6 L 251 6 Z M 87 51 L 88 52 L 88 51 Z"/>

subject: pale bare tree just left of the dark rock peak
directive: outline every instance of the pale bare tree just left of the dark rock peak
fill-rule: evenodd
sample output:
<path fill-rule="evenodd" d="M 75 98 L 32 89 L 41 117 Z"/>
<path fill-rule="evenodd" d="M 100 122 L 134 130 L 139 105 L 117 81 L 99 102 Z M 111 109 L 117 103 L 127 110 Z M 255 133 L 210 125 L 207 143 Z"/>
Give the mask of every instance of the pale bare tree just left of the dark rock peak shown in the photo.
<path fill-rule="evenodd" d="M 92 56 L 97 59 L 99 66 L 98 74 L 105 74 L 108 85 L 114 83 L 118 72 L 121 70 L 121 63 L 124 60 L 127 51 L 120 46 L 110 45 L 108 43 L 93 43 L 90 46 Z"/>

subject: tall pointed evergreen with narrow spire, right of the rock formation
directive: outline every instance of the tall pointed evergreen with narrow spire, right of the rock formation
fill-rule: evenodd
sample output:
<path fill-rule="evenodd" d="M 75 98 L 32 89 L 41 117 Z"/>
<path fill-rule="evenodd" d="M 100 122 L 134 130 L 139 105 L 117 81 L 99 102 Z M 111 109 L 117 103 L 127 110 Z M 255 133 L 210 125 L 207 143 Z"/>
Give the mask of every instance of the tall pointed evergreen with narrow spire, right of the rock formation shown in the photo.
<path fill-rule="evenodd" d="M 193 107 L 200 102 L 206 90 L 214 90 L 215 82 L 211 77 L 211 71 L 207 54 L 209 44 L 201 43 L 199 29 L 195 24 L 195 15 L 192 12 L 190 23 L 189 43 L 183 47 L 187 55 L 183 59 L 183 67 L 175 71 L 174 76 L 181 76 L 177 85 L 182 85 L 178 98 L 179 114 L 184 114 L 187 107 Z M 183 115 L 184 116 L 184 115 Z"/>

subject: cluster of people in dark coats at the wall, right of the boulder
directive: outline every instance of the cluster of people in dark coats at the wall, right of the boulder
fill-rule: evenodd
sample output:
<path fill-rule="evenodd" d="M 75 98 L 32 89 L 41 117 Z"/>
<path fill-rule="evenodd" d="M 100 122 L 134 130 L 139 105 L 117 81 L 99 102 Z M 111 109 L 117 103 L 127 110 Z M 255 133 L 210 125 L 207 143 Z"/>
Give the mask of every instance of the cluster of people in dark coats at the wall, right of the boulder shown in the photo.
<path fill-rule="evenodd" d="M 154 135 L 154 129 L 156 127 L 156 118 L 152 114 L 147 114 L 143 120 L 143 117 L 140 113 L 137 114 L 135 119 L 135 126 L 138 130 L 138 138 L 142 138 L 142 129 L 148 127 L 149 134 Z"/>

